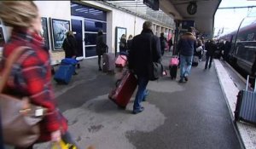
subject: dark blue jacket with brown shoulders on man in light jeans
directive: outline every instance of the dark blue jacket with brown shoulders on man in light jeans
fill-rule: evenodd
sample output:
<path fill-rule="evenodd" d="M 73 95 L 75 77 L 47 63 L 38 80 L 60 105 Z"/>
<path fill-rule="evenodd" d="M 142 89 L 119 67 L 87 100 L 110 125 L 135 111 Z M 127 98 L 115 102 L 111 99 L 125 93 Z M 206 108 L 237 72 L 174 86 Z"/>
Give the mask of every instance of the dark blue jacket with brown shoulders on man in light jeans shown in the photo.
<path fill-rule="evenodd" d="M 192 56 L 196 49 L 196 39 L 191 32 L 185 33 L 177 43 L 179 54 L 184 56 Z"/>

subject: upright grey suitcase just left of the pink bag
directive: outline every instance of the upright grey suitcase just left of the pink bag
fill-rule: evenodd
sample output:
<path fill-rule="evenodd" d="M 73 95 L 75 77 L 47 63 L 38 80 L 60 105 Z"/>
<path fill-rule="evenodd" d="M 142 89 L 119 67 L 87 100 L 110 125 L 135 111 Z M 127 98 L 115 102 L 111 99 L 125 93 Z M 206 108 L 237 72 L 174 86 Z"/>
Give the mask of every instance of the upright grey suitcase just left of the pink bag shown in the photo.
<path fill-rule="evenodd" d="M 114 60 L 115 60 L 114 54 L 109 54 L 109 53 L 103 54 L 103 66 L 102 66 L 103 72 L 113 72 L 114 71 L 114 67 L 115 67 Z"/>

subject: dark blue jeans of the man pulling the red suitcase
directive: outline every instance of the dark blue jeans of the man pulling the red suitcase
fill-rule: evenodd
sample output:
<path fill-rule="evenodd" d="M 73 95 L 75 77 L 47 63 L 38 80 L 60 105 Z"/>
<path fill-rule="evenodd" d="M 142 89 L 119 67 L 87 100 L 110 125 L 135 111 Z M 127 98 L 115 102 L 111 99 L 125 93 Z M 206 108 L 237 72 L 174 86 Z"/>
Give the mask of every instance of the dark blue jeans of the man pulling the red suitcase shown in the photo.
<path fill-rule="evenodd" d="M 139 110 L 142 107 L 141 102 L 145 97 L 145 95 L 147 95 L 146 88 L 148 85 L 148 78 L 137 77 L 137 85 L 138 85 L 138 89 L 137 89 L 137 95 L 133 104 L 133 111 Z"/>

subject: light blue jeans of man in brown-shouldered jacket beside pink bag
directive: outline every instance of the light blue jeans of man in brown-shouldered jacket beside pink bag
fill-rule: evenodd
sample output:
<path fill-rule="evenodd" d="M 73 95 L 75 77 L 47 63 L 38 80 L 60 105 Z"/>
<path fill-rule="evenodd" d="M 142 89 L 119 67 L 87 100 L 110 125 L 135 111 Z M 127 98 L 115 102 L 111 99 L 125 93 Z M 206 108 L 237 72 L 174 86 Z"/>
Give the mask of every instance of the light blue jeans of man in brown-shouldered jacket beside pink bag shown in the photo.
<path fill-rule="evenodd" d="M 180 55 L 180 78 L 189 76 L 191 66 L 192 66 L 193 56 Z"/>

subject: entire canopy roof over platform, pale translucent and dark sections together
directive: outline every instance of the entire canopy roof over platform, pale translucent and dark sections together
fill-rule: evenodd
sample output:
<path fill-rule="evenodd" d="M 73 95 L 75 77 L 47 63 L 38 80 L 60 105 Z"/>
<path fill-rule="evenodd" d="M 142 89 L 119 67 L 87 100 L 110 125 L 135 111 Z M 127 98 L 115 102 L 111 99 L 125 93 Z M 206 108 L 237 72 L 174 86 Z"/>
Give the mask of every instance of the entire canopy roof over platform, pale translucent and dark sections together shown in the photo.
<path fill-rule="evenodd" d="M 148 20 L 154 20 L 160 25 L 175 28 L 174 20 L 194 20 L 195 28 L 208 36 L 213 34 L 214 14 L 221 0 L 159 0 L 160 9 L 150 9 L 143 0 L 104 0 L 118 9 L 124 9 Z M 195 13 L 189 14 L 189 5 Z M 193 12 L 193 10 L 191 10 Z"/>

